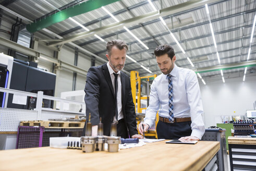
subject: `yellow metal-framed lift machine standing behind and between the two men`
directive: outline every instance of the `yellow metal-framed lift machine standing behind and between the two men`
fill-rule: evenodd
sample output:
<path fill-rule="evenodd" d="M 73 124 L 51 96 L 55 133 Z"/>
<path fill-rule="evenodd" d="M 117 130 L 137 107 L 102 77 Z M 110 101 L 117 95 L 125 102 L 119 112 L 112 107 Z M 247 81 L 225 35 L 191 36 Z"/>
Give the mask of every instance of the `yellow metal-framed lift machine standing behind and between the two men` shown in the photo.
<path fill-rule="evenodd" d="M 130 72 L 130 78 L 131 78 L 131 93 L 133 98 L 133 103 L 135 104 L 135 112 L 136 112 L 136 120 L 137 120 L 137 126 L 140 124 L 141 121 L 143 121 L 145 117 L 145 109 L 149 106 L 149 82 L 154 80 L 156 77 L 156 74 L 153 76 L 145 76 L 140 77 L 138 71 L 131 71 Z M 141 96 L 141 82 L 147 81 L 147 96 Z M 136 99 L 137 97 L 137 99 Z M 147 100 L 147 107 L 141 107 L 141 100 Z M 159 121 L 159 115 L 156 114 L 155 118 L 155 128 Z M 140 132 L 139 132 L 140 133 Z M 147 137 L 155 137 L 157 139 L 156 130 L 148 130 L 145 132 L 145 136 Z"/>

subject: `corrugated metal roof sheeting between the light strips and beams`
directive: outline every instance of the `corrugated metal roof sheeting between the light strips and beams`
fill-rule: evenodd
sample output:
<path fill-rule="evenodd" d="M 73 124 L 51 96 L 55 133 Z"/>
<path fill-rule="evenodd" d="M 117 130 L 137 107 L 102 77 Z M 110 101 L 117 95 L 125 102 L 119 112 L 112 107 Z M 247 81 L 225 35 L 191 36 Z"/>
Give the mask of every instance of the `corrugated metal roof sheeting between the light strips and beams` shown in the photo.
<path fill-rule="evenodd" d="M 27 0 L 14 1 L 7 7 L 30 20 L 35 20 L 57 11 L 56 8 L 62 9 L 68 4 L 76 5 L 76 3 L 79 2 L 81 1 Z M 167 8 L 186 2 L 188 1 L 152 1 L 156 9 Z M 153 8 L 148 1 L 145 0 L 123 0 L 106 5 L 105 8 L 112 14 L 116 14 L 115 17 L 119 21 L 132 19 L 153 11 Z M 214 4 L 209 4 L 209 11 L 217 43 L 217 51 L 221 58 L 221 64 L 246 62 L 250 46 L 252 23 L 256 11 L 256 1 L 219 1 Z M 86 26 L 89 30 L 108 26 L 116 22 L 112 17 L 109 17 L 102 8 L 72 18 Z M 186 51 L 186 54 L 181 52 L 178 45 L 159 19 L 147 20 L 142 23 L 133 23 L 132 25 L 127 26 L 133 34 L 138 36 L 143 43 L 149 46 L 149 50 L 146 50 L 145 47 L 137 42 L 135 38 L 123 28 L 113 29 L 111 31 L 99 33 L 98 35 L 104 38 L 105 41 L 117 38 L 125 40 L 129 45 L 127 54 L 137 60 L 139 64 L 142 64 L 157 74 L 161 73 L 156 65 L 156 60 L 153 55 L 154 48 L 157 44 L 172 45 L 177 57 L 176 64 L 180 67 L 195 69 L 219 65 L 208 16 L 206 15 L 204 6 L 188 11 L 180 11 L 179 14 L 163 16 L 163 18 L 170 31 L 173 32 L 182 48 Z M 55 23 L 47 29 L 62 35 L 64 38 L 85 31 L 69 19 Z M 256 59 L 255 40 L 254 36 L 249 60 Z M 105 58 L 106 43 L 98 40 L 94 36 L 89 36 L 74 42 L 102 58 Z M 189 64 L 187 57 L 191 58 L 194 67 Z M 142 75 L 149 74 L 147 71 L 140 68 L 139 64 L 134 64 L 129 59 L 127 59 L 126 64 L 125 69 L 128 71 L 136 68 Z M 255 67 L 250 67 L 250 69 L 252 68 Z M 241 72 L 241 70 L 244 70 L 244 68 L 225 70 L 224 75 Z M 201 75 L 206 77 L 206 79 L 210 79 L 211 76 L 220 75 L 220 71 L 204 72 L 201 73 Z"/>

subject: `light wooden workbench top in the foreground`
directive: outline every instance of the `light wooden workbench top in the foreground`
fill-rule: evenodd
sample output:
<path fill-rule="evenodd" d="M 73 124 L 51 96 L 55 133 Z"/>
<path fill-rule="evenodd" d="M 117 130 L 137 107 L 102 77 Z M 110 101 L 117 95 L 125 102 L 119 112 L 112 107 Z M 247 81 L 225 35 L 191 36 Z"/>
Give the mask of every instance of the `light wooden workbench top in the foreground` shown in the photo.
<path fill-rule="evenodd" d="M 166 144 L 165 141 L 119 150 L 117 153 L 53 149 L 0 151 L 0 170 L 202 170 L 220 143 Z"/>

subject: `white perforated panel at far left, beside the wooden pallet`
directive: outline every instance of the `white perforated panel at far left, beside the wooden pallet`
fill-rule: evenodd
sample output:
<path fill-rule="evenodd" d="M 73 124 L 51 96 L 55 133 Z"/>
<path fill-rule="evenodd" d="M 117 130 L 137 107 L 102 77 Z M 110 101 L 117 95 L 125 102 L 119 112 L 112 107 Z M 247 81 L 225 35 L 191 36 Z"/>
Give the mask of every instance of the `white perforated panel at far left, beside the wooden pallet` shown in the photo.
<path fill-rule="evenodd" d="M 37 120 L 38 111 L 0 108 L 0 131 L 18 131 L 21 120 Z"/>

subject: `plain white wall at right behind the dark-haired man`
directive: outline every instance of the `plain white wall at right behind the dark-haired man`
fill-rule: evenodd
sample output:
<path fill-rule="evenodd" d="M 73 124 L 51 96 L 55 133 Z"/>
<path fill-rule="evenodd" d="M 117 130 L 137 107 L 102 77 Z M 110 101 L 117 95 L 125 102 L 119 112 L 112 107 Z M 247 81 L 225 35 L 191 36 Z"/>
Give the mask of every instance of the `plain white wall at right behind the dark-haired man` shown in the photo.
<path fill-rule="evenodd" d="M 247 109 L 253 109 L 256 101 L 256 76 L 247 76 L 219 80 L 201 84 L 200 90 L 204 108 L 205 127 L 216 126 L 220 123 L 220 116 L 241 116 Z"/>

